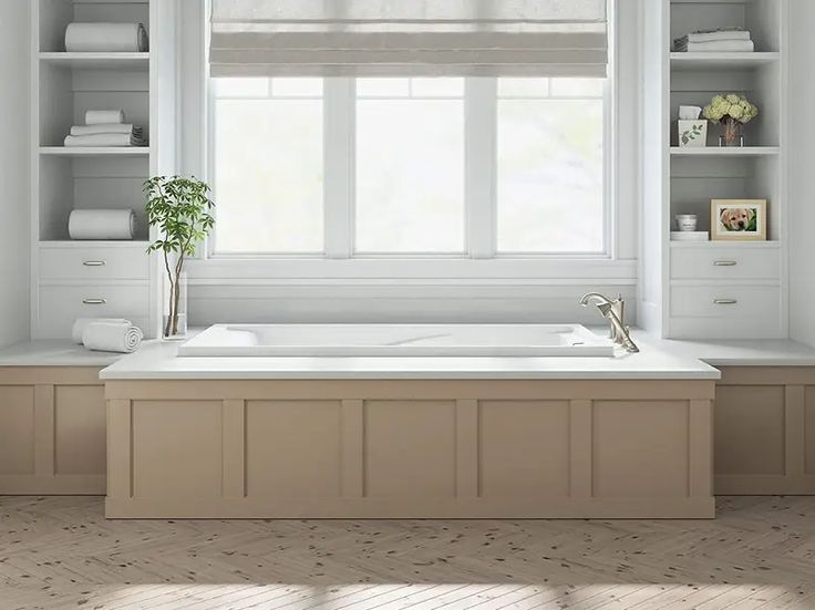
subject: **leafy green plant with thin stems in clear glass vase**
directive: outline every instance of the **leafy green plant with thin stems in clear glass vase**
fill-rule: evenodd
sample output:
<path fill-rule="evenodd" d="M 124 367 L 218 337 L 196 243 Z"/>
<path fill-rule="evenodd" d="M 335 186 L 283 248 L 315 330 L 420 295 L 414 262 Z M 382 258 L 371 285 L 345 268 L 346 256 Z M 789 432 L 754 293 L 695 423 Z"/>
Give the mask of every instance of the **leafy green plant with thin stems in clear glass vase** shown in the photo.
<path fill-rule="evenodd" d="M 147 221 L 157 227 L 159 237 L 147 248 L 162 252 L 168 280 L 168 310 L 163 320 L 165 339 L 183 337 L 178 328 L 184 261 L 195 254 L 196 246 L 215 225 L 210 211 L 209 186 L 199 179 L 180 176 L 157 176 L 144 183 L 147 199 Z"/>

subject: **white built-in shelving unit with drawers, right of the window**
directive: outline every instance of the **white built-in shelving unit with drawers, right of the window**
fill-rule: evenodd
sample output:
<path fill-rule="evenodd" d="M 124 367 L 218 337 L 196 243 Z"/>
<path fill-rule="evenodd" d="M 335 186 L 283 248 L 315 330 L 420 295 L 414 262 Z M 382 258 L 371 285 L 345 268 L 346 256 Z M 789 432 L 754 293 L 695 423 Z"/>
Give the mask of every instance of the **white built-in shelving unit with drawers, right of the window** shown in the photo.
<path fill-rule="evenodd" d="M 656 0 L 644 11 L 642 103 L 646 124 L 661 128 L 643 134 L 641 323 L 671 338 L 786 338 L 786 2 Z M 751 32 L 755 52 L 672 51 L 689 32 L 733 27 Z M 760 107 L 745 146 L 720 147 L 722 127 L 712 123 L 706 147 L 678 146 L 679 106 L 721 93 Z M 767 241 L 670 240 L 675 215 L 695 214 L 706 231 L 710 200 L 740 198 L 767 200 Z"/>

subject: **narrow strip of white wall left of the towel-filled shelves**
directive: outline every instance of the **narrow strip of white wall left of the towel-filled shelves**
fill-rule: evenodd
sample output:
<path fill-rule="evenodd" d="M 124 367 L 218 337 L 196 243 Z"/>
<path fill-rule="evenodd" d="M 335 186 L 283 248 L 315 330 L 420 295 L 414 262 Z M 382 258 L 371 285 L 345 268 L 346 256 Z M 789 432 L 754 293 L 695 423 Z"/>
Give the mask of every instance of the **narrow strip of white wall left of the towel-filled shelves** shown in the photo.
<path fill-rule="evenodd" d="M 0 347 L 29 337 L 29 0 L 0 0 Z"/>

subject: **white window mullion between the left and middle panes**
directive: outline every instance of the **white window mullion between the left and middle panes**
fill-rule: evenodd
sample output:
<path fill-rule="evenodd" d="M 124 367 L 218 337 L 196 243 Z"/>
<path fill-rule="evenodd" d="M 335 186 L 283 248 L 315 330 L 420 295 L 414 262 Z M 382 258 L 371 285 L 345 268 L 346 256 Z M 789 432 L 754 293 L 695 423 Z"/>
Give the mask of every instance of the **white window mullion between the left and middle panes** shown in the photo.
<path fill-rule="evenodd" d="M 326 257 L 353 252 L 354 81 L 324 81 Z"/>

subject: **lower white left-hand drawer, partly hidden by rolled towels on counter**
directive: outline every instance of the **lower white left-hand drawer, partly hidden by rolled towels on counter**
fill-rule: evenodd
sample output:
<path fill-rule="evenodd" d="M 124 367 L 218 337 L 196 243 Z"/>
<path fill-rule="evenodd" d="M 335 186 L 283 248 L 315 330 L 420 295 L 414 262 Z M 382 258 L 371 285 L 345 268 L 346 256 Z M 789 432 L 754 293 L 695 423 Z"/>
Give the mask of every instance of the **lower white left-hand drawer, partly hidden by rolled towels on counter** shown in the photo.
<path fill-rule="evenodd" d="M 41 286 L 39 339 L 65 339 L 76 318 L 127 318 L 143 331 L 149 324 L 149 286 Z"/>

